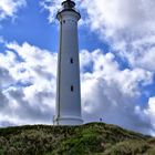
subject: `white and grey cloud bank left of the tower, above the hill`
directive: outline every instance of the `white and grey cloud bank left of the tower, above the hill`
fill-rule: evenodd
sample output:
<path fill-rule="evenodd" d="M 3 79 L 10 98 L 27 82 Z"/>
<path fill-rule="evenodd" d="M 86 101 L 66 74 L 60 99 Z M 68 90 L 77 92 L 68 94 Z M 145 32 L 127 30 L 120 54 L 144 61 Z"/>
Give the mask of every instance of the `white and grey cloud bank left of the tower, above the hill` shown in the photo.
<path fill-rule="evenodd" d="M 56 54 L 16 42 L 0 54 L 1 124 L 52 123 Z"/>

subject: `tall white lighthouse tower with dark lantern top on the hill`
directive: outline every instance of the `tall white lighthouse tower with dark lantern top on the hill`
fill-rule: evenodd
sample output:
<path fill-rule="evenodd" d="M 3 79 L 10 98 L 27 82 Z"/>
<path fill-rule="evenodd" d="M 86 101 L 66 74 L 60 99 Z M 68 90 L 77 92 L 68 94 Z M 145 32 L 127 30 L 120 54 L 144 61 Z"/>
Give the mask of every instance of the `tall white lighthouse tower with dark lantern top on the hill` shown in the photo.
<path fill-rule="evenodd" d="M 80 125 L 81 91 L 79 66 L 78 21 L 81 16 L 71 0 L 62 2 L 56 19 L 60 21 L 60 50 L 56 79 L 55 125 Z"/>

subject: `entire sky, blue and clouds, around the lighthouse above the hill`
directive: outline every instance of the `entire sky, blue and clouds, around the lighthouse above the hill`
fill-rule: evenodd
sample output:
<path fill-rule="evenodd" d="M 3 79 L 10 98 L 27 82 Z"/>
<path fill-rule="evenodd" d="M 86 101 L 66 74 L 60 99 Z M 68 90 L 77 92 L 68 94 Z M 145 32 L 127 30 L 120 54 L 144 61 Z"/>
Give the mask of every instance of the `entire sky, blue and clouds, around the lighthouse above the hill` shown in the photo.
<path fill-rule="evenodd" d="M 0 126 L 52 124 L 61 2 L 0 3 Z M 155 2 L 75 2 L 84 122 L 155 135 Z"/>

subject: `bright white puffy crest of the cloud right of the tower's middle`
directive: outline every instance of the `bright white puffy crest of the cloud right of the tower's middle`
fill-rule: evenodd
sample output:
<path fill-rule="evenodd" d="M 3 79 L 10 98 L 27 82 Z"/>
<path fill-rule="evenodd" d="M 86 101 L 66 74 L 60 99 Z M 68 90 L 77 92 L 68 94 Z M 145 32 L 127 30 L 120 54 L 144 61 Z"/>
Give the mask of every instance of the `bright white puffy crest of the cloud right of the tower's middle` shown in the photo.
<path fill-rule="evenodd" d="M 104 79 L 107 83 L 115 83 L 122 93 L 134 96 L 140 94 L 138 84 L 152 83 L 153 73 L 141 68 L 120 70 L 120 64 L 115 60 L 113 53 L 103 54 L 101 50 L 92 53 L 82 51 L 81 53 L 81 71 L 84 68 L 92 68 L 92 73 L 87 76 L 95 79 Z"/>

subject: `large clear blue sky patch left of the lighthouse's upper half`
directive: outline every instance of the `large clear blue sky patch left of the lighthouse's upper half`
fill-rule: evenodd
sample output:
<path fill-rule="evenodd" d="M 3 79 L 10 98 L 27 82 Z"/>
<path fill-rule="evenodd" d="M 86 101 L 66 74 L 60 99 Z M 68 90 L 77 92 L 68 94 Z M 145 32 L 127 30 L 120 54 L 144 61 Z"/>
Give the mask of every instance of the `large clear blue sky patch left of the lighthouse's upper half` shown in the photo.
<path fill-rule="evenodd" d="M 39 1 L 29 0 L 14 21 L 7 19 L 2 22 L 1 35 L 8 41 L 28 41 L 40 48 L 56 51 L 58 29 L 56 25 L 49 24 L 45 17 L 48 12 L 42 11 Z"/>

